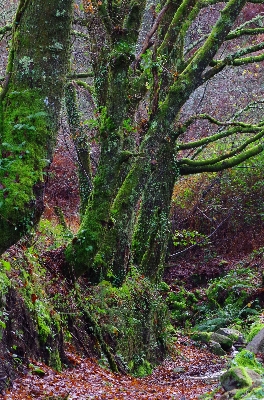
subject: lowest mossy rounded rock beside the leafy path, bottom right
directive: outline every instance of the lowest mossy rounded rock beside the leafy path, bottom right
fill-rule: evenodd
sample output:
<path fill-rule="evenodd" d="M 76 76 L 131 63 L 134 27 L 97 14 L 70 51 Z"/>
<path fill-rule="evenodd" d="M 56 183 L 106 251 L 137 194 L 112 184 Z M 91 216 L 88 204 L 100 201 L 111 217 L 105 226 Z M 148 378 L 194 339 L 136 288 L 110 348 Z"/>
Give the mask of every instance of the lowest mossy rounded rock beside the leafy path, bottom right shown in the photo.
<path fill-rule="evenodd" d="M 220 383 L 223 388 L 229 392 L 233 389 L 241 389 L 252 386 L 252 379 L 250 378 L 246 368 L 233 367 L 221 376 Z"/>

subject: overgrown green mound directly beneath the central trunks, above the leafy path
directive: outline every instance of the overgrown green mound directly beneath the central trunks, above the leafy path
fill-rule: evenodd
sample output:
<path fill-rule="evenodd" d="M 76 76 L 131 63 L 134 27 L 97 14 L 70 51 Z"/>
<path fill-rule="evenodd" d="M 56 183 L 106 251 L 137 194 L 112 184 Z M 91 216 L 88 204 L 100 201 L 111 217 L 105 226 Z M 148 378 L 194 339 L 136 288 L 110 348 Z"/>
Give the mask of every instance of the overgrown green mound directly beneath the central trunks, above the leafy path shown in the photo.
<path fill-rule="evenodd" d="M 88 304 L 130 372 L 146 375 L 167 352 L 174 330 L 166 305 L 148 279 L 132 271 L 119 288 L 107 281 L 91 289 Z"/>

